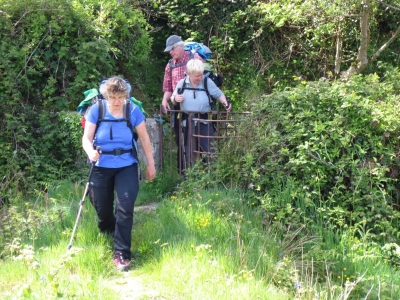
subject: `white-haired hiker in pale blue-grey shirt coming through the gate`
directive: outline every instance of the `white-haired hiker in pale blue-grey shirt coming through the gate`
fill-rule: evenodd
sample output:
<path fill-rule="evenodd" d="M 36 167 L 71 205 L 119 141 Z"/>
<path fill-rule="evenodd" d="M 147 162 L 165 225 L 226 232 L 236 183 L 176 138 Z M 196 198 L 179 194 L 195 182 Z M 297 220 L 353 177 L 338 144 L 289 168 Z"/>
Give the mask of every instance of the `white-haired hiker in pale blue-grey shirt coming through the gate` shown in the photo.
<path fill-rule="evenodd" d="M 231 110 L 231 104 L 215 83 L 203 75 L 204 63 L 201 60 L 189 60 L 186 64 L 186 73 L 187 76 L 178 82 L 172 93 L 171 101 L 173 104 L 180 104 L 181 110 L 184 111 L 182 122 L 186 164 L 188 166 L 193 161 L 193 158 L 190 157 L 193 150 L 203 153 L 206 162 L 210 162 L 210 158 L 215 152 L 212 147 L 214 142 L 213 124 L 207 122 L 208 113 L 211 111 L 210 97 L 218 99 L 228 112 Z M 205 80 L 207 80 L 207 89 L 205 89 Z M 193 114 L 194 118 L 204 119 L 205 121 L 187 124 L 188 114 Z M 202 137 L 192 138 L 194 133 Z"/>

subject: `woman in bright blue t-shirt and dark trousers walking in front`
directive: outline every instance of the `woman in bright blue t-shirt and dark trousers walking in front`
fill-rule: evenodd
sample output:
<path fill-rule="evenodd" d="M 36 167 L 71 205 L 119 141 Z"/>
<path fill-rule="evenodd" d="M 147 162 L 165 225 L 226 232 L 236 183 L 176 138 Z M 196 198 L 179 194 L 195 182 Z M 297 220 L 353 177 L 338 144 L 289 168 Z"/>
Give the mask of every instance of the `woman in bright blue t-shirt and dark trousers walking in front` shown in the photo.
<path fill-rule="evenodd" d="M 103 100 L 106 102 L 104 120 L 97 125 L 99 103 L 94 104 L 86 116 L 82 146 L 88 158 L 96 162 L 90 179 L 89 197 L 97 212 L 98 227 L 101 232 L 113 235 L 113 261 L 122 271 L 129 269 L 133 210 L 139 192 L 136 141 L 124 118 L 123 107 L 129 97 L 125 80 L 109 78 L 100 86 L 100 93 L 106 99 Z M 137 105 L 132 103 L 128 107 L 130 122 L 147 159 L 146 178 L 152 180 L 156 169 L 145 116 Z M 97 147 L 100 151 L 96 150 Z"/>

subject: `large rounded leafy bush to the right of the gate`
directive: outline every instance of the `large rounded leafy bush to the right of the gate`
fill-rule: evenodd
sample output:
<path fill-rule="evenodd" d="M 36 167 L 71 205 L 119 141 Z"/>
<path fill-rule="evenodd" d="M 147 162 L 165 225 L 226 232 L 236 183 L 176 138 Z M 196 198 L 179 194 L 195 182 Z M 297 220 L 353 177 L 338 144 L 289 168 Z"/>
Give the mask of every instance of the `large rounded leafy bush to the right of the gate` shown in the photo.
<path fill-rule="evenodd" d="M 247 188 L 269 218 L 292 226 L 325 224 L 334 232 L 365 223 L 375 239 L 394 241 L 400 216 L 398 92 L 391 80 L 370 75 L 302 82 L 263 96 L 253 103 L 253 118 L 241 125 L 246 139 L 220 156 L 218 176 Z M 276 202 L 283 191 L 287 202 Z"/>

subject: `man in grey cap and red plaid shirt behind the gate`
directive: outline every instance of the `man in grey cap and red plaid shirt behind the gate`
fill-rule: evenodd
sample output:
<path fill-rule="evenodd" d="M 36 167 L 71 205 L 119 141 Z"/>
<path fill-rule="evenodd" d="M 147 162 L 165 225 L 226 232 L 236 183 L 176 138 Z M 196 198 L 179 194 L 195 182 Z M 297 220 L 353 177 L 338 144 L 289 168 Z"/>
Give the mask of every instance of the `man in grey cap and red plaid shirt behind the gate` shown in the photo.
<path fill-rule="evenodd" d="M 171 59 L 168 61 L 165 71 L 164 71 L 164 81 L 163 81 L 163 92 L 164 96 L 161 103 L 162 113 L 167 113 L 167 110 L 170 110 L 170 106 L 168 101 L 170 101 L 173 91 L 175 90 L 178 82 L 185 77 L 186 72 L 186 63 L 190 59 L 200 59 L 204 62 L 204 59 L 197 53 L 192 53 L 190 51 L 185 51 L 185 43 L 182 38 L 177 35 L 171 35 L 166 41 L 166 48 L 164 52 L 169 52 L 171 55 Z M 173 106 L 173 110 L 179 110 L 179 104 Z M 178 169 L 179 166 L 182 166 L 182 158 L 181 149 L 179 147 L 179 122 L 178 122 L 178 114 L 174 113 L 174 131 L 175 131 L 175 141 L 178 146 Z M 180 162 L 181 161 L 181 162 Z"/>

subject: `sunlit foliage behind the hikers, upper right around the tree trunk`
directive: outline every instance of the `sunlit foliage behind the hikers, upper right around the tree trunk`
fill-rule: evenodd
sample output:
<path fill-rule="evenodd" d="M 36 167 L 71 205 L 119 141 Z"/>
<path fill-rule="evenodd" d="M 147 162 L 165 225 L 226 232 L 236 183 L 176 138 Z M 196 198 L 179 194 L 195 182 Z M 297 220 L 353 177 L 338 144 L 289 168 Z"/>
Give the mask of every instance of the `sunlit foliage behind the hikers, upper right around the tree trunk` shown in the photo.
<path fill-rule="evenodd" d="M 396 3 L 397 2 L 397 3 Z M 202 41 L 214 50 L 213 65 L 226 78 L 225 91 L 243 108 L 253 89 L 271 92 L 305 80 L 338 78 L 358 60 L 360 16 L 369 12 L 368 53 L 393 36 L 400 14 L 384 1 L 364 7 L 360 1 L 149 0 L 138 6 L 154 28 L 155 51 L 169 34 Z M 168 27 L 166 27 L 166 24 Z M 395 40 L 379 59 L 396 65 Z M 166 60 L 166 58 L 164 58 Z M 366 72 L 377 71 L 376 61 Z"/>

